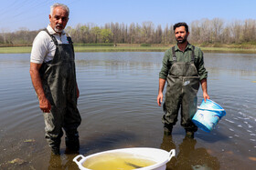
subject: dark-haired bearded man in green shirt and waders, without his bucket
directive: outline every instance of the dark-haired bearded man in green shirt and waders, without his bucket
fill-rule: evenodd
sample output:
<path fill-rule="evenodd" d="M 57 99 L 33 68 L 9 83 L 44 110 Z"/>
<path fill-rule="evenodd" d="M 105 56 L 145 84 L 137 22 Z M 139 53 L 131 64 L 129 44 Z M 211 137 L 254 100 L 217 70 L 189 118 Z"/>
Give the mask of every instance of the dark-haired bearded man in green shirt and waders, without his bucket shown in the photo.
<path fill-rule="evenodd" d="M 172 134 L 180 109 L 180 124 L 185 128 L 186 135 L 194 138 L 197 126 L 192 122 L 192 118 L 197 111 L 197 91 L 201 84 L 204 100 L 209 99 L 208 72 L 204 66 L 202 51 L 187 42 L 187 24 L 177 23 L 174 25 L 174 32 L 177 45 L 165 51 L 163 66 L 159 73 L 157 104 L 161 106 L 163 102 L 163 91 L 167 81 L 162 118 L 164 133 Z"/>

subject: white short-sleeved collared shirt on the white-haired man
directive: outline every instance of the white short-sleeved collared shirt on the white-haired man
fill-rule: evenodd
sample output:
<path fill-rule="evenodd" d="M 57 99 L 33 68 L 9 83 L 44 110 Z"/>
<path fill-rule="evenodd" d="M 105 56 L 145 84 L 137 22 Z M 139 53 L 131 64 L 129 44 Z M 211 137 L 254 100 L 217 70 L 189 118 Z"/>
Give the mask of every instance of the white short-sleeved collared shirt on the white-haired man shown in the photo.
<path fill-rule="evenodd" d="M 47 27 L 50 35 L 54 35 L 59 44 L 69 44 L 66 33 L 62 31 L 61 35 L 56 33 L 50 25 Z M 56 45 L 46 31 L 40 31 L 34 39 L 30 62 L 36 64 L 46 63 L 53 59 L 56 51 Z"/>

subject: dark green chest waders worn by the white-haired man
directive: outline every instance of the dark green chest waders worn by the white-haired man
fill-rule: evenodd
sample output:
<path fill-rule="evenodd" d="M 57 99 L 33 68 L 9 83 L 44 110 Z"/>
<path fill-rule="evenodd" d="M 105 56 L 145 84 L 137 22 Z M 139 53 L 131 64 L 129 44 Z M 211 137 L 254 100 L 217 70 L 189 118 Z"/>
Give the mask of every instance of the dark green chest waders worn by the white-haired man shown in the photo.
<path fill-rule="evenodd" d="M 48 33 L 48 31 L 46 30 Z M 66 133 L 67 147 L 78 149 L 78 126 L 81 118 L 77 108 L 77 82 L 74 51 L 71 39 L 69 44 L 59 45 L 53 35 L 48 35 L 56 45 L 53 60 L 44 63 L 39 72 L 44 92 L 51 104 L 50 113 L 44 113 L 45 131 L 48 145 L 59 148 L 60 138 Z"/>

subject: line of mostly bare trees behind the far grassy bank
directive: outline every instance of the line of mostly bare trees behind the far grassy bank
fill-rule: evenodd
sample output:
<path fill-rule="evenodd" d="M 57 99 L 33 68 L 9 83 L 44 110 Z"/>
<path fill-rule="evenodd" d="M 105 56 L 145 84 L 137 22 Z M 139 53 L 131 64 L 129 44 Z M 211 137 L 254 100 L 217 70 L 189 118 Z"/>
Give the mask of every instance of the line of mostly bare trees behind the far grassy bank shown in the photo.
<path fill-rule="evenodd" d="M 233 21 L 223 19 L 201 19 L 191 22 L 189 42 L 195 44 L 241 44 L 256 43 L 256 20 Z M 2 29 L 0 45 L 32 45 L 37 31 L 20 28 L 8 33 Z M 107 23 L 105 25 L 79 24 L 67 26 L 66 32 L 76 44 L 175 44 L 173 25 Z"/>

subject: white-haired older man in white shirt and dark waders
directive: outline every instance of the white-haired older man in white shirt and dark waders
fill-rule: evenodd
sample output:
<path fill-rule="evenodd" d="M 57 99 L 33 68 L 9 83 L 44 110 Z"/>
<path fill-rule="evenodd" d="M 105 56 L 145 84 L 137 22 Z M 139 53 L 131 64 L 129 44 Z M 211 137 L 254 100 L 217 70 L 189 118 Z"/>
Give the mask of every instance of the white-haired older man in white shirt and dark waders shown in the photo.
<path fill-rule="evenodd" d="M 74 50 L 64 28 L 69 21 L 69 7 L 50 6 L 49 25 L 38 33 L 30 56 L 30 75 L 39 107 L 44 113 L 48 145 L 59 155 L 62 128 L 66 133 L 66 152 L 79 152 L 77 108 L 79 88 L 76 81 Z"/>

